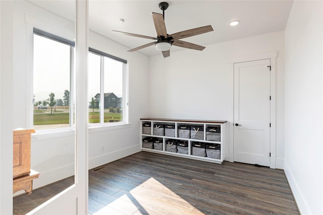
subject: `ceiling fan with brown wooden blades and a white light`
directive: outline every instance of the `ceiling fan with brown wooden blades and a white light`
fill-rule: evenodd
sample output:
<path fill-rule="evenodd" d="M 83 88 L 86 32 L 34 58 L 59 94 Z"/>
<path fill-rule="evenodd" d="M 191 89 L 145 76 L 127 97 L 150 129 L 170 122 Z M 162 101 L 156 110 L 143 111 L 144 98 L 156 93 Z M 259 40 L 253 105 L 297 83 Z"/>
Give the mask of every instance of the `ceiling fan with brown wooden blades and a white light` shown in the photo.
<path fill-rule="evenodd" d="M 157 40 L 155 42 L 151 42 L 151 43 L 139 46 L 137 48 L 133 48 L 133 49 L 129 50 L 130 52 L 137 51 L 137 50 L 140 50 L 142 48 L 146 48 L 151 45 L 155 45 L 156 50 L 161 51 L 163 53 L 164 57 L 169 57 L 170 56 L 170 49 L 171 49 L 172 45 L 180 46 L 183 48 L 200 50 L 200 51 L 205 48 L 204 46 L 196 45 L 194 43 L 185 42 L 185 41 L 182 41 L 179 39 L 183 39 L 183 38 L 187 38 L 187 37 L 191 37 L 191 36 L 204 34 L 204 33 L 213 31 L 212 26 L 207 25 L 207 26 L 193 28 L 190 30 L 181 31 L 181 32 L 177 32 L 177 33 L 169 35 L 169 34 L 167 34 L 166 25 L 165 25 L 165 21 L 164 21 L 165 10 L 168 8 L 169 5 L 167 2 L 161 2 L 161 3 L 159 3 L 158 6 L 159 6 L 160 10 L 163 11 L 163 14 L 157 14 L 157 13 L 153 13 L 153 12 L 151 13 L 153 23 L 155 25 L 155 29 L 157 32 L 157 37 L 150 37 L 150 36 L 144 36 L 144 35 L 139 35 L 139 34 L 132 34 L 132 33 L 113 30 L 113 32 L 122 33 L 122 34 L 125 34 L 128 36 Z"/>

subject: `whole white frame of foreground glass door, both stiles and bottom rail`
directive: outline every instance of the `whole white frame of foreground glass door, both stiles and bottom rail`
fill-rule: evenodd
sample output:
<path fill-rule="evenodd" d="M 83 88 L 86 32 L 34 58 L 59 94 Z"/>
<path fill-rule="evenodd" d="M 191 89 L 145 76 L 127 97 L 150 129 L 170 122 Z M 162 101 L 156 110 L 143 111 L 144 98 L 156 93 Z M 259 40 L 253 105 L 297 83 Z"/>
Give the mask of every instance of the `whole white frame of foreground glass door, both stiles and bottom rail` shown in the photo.
<path fill-rule="evenodd" d="M 57 196 L 46 201 L 39 207 L 30 211 L 35 214 L 87 214 L 88 213 L 88 107 L 87 107 L 87 53 L 88 53 L 88 1 L 76 0 L 76 69 L 77 75 L 77 100 L 79 107 L 76 113 L 76 158 L 75 158 L 75 184 Z M 0 214 L 12 214 L 13 211 L 13 147 L 4 142 L 13 141 L 13 0 L 0 1 L 1 44 L 0 44 L 0 169 L 4 177 L 0 179 Z M 6 41 L 6 43 L 3 43 Z M 84 87 L 85 86 L 85 87 Z M 64 201 L 67 199 L 68 201 Z M 71 204 L 71 202 L 73 204 Z M 64 208 L 64 211 L 63 211 Z"/>

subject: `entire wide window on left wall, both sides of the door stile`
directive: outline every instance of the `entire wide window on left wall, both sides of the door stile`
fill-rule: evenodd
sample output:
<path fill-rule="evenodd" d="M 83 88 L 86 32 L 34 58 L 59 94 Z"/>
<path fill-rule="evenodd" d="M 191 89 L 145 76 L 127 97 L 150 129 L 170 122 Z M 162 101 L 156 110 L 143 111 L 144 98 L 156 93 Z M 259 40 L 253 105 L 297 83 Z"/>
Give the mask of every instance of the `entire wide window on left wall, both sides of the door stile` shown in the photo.
<path fill-rule="evenodd" d="M 34 29 L 34 129 L 73 126 L 74 45 Z M 89 48 L 88 65 L 89 123 L 127 123 L 127 61 Z"/>

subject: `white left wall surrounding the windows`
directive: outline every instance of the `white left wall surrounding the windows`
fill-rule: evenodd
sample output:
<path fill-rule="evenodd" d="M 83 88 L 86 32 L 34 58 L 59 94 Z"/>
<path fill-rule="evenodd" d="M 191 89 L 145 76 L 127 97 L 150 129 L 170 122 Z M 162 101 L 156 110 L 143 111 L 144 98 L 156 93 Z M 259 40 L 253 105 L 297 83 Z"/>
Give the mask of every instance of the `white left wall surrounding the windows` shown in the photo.
<path fill-rule="evenodd" d="M 24 1 L 14 2 L 14 128 L 32 127 L 32 28 L 73 40 L 74 24 Z M 129 124 L 89 129 L 89 168 L 140 151 L 139 118 L 146 116 L 148 57 L 129 53 L 128 48 L 94 32 L 89 46 L 128 61 Z M 90 75 L 90 74 L 89 74 Z M 50 77 L 48 77 L 50 79 Z M 104 148 L 101 151 L 101 148 Z M 74 130 L 39 133 L 31 139 L 31 168 L 40 172 L 37 188 L 74 174 Z"/>

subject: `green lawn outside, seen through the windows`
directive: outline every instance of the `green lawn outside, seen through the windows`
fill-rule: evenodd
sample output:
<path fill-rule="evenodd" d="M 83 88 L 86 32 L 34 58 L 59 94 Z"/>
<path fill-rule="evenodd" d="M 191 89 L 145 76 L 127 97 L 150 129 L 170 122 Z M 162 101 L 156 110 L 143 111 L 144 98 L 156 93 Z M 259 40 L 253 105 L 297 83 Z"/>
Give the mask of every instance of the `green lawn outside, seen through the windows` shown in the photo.
<path fill-rule="evenodd" d="M 50 110 L 49 110 L 50 111 Z M 59 111 L 50 113 L 48 110 L 34 110 L 34 125 L 50 125 L 50 124 L 69 124 L 70 113 L 64 112 L 58 113 Z M 121 113 L 104 113 L 104 122 L 109 122 L 109 120 L 122 120 Z M 89 112 L 89 123 L 99 122 L 99 112 Z"/>

